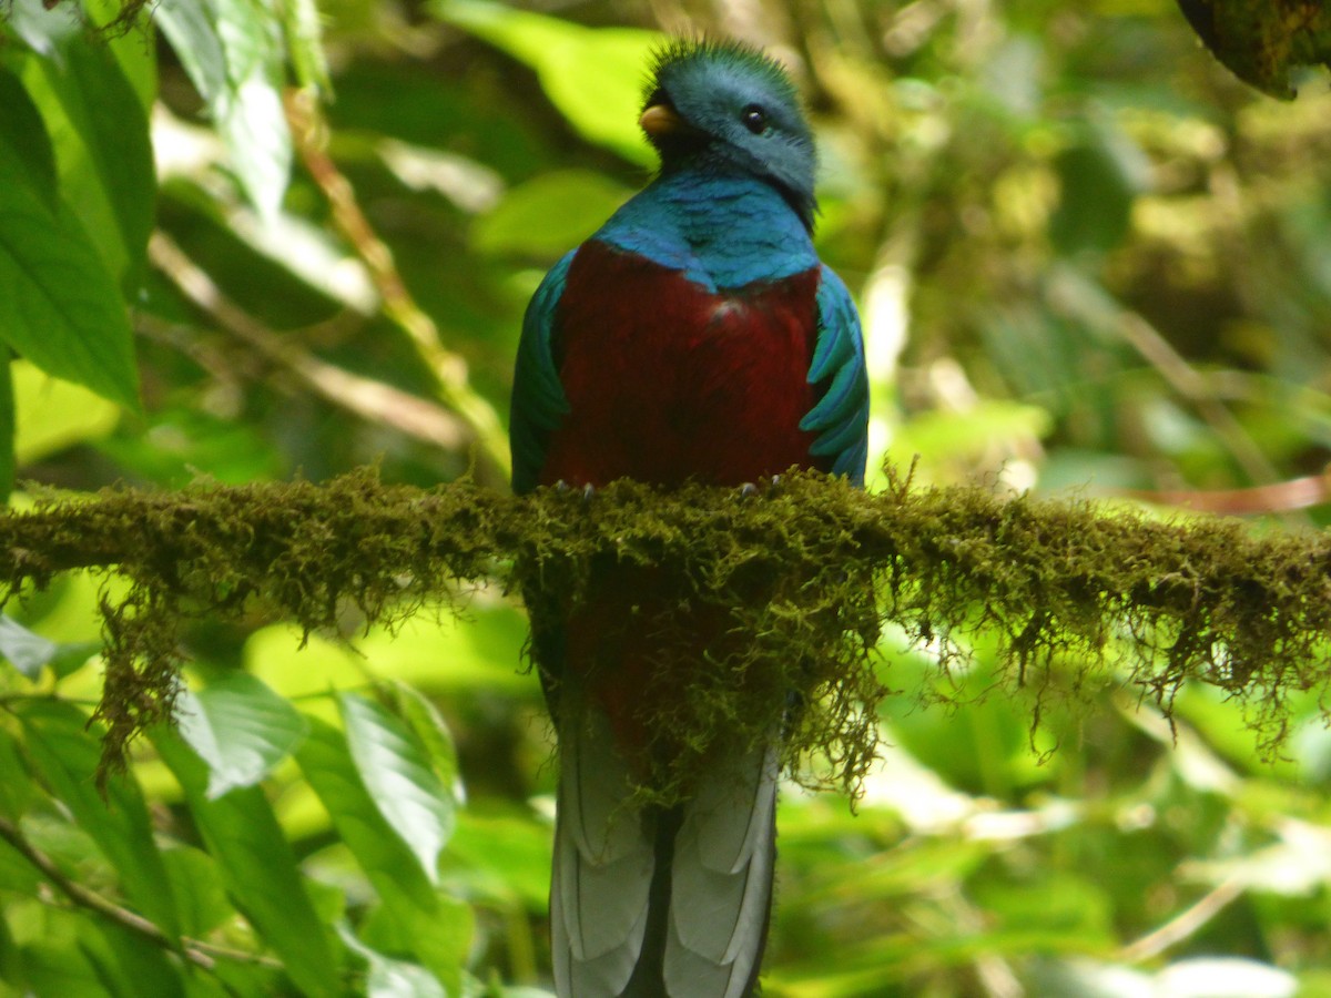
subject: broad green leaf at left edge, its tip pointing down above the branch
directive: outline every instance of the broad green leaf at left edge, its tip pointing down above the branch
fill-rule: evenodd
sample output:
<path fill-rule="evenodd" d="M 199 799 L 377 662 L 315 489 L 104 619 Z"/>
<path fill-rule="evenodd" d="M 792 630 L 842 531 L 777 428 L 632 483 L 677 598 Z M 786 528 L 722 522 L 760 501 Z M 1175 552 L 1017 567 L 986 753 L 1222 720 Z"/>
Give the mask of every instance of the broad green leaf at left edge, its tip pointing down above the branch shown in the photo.
<path fill-rule="evenodd" d="M 138 373 L 125 305 L 53 180 L 45 134 L 15 77 L 0 71 L 0 339 L 37 367 L 132 409 Z"/>

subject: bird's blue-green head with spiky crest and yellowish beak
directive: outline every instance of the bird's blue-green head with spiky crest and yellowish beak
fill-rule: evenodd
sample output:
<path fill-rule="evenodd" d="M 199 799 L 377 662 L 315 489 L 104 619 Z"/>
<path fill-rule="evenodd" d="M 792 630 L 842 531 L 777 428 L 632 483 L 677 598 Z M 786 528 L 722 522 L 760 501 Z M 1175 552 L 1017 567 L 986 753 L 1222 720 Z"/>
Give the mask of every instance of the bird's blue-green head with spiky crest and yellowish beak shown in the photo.
<path fill-rule="evenodd" d="M 656 53 L 639 124 L 662 173 L 703 169 L 772 184 L 813 228 L 813 136 L 789 76 L 735 41 L 676 40 Z"/>

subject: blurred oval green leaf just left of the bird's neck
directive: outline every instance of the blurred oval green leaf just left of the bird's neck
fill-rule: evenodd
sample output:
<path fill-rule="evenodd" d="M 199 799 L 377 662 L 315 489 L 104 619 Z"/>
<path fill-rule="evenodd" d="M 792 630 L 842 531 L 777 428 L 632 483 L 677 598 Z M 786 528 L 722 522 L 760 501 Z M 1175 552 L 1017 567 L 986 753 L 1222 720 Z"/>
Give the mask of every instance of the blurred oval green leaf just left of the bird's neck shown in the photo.
<path fill-rule="evenodd" d="M 591 170 L 543 173 L 507 192 L 476 218 L 471 242 L 480 253 L 558 257 L 592 234 L 632 194 Z"/>

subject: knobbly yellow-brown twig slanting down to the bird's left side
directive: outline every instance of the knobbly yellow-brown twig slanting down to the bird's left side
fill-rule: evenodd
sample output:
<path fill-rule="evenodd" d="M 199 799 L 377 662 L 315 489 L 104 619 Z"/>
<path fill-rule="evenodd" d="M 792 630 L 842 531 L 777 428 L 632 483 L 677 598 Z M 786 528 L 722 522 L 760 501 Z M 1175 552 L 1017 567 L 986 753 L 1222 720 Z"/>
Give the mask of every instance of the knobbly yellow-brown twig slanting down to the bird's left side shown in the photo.
<path fill-rule="evenodd" d="M 393 251 L 374 232 L 350 181 L 327 154 L 327 122 L 319 113 L 317 98 L 306 90 L 289 89 L 285 104 L 301 161 L 333 208 L 333 224 L 369 267 L 383 299 L 385 315 L 407 334 L 417 354 L 434 374 L 441 401 L 471 427 L 484 456 L 507 476 L 508 446 L 498 413 L 471 387 L 467 362 L 443 345 L 434 319 L 411 297 L 393 261 Z"/>

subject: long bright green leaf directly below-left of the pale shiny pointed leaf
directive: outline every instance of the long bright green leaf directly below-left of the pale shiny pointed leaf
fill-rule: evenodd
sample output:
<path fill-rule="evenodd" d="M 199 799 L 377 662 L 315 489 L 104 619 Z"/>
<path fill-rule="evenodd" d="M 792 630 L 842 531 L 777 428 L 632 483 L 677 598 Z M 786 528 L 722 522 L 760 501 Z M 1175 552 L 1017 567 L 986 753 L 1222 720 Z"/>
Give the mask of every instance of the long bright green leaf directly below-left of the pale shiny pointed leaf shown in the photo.
<path fill-rule="evenodd" d="M 343 697 L 353 699 L 359 697 Z M 362 716 L 358 707 L 350 711 L 353 717 Z M 433 876 L 389 824 L 370 796 L 347 737 L 326 721 L 311 717 L 309 723 L 310 735 L 295 753 L 301 772 L 374 886 L 399 943 L 455 993 L 471 934 L 467 909 L 438 893 Z"/>

